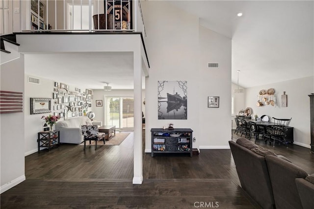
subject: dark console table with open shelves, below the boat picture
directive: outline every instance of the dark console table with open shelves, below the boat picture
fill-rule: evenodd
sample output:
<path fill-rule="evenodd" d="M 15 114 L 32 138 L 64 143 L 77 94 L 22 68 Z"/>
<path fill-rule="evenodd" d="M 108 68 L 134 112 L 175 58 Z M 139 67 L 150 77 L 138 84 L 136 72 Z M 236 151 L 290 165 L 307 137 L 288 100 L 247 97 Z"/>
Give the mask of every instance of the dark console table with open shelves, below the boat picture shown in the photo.
<path fill-rule="evenodd" d="M 192 157 L 192 129 L 152 128 L 152 153 L 189 153 Z"/>

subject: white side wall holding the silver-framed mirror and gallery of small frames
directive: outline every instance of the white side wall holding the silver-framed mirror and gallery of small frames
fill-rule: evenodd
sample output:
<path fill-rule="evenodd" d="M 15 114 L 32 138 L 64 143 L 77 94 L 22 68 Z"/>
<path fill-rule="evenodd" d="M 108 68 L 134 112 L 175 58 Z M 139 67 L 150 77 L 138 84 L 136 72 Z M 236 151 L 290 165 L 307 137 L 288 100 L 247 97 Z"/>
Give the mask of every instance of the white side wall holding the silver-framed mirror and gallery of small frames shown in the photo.
<path fill-rule="evenodd" d="M 28 76 L 39 78 L 40 84 L 28 83 L 28 80 L 27 80 Z M 38 151 L 37 133 L 42 131 L 43 122 L 44 122 L 44 120 L 41 119 L 41 116 L 49 116 L 49 115 L 53 115 L 54 112 L 60 112 L 60 110 L 53 111 L 53 108 L 52 108 L 51 113 L 30 115 L 30 98 L 52 98 L 53 88 L 55 88 L 54 82 L 58 82 L 60 84 L 60 81 L 53 81 L 53 80 L 25 74 L 25 110 L 26 110 L 24 112 L 25 114 L 25 156 Z M 86 89 L 85 87 L 81 87 L 81 86 L 70 85 L 70 84 L 67 84 L 67 85 L 70 86 L 69 88 L 70 92 L 74 92 L 76 87 L 80 88 L 81 91 L 85 91 Z M 54 105 L 53 104 L 54 100 L 56 99 L 52 99 L 52 106 Z M 89 111 L 91 110 L 92 108 L 89 108 Z M 64 117 L 60 118 L 60 120 L 64 120 Z"/>

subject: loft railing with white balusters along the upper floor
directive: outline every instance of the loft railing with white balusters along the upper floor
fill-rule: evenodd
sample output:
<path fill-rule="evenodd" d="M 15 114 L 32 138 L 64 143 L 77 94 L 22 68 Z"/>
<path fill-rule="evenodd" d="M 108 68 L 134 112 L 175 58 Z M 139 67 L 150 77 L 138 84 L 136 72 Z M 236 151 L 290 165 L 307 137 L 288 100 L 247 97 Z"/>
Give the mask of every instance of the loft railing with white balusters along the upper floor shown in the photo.
<path fill-rule="evenodd" d="M 140 0 L 0 0 L 1 34 L 21 31 L 142 32 Z"/>

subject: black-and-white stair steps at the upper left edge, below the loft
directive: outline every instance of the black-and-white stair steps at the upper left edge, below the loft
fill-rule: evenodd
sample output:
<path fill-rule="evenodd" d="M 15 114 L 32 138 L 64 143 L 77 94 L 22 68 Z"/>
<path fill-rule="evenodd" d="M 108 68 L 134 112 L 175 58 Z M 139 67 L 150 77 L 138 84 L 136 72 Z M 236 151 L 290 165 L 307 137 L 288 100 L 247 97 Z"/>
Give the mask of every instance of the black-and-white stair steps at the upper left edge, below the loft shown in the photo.
<path fill-rule="evenodd" d="M 15 34 L 1 35 L 0 42 L 1 64 L 20 57 L 18 52 L 20 44 L 16 42 Z"/>

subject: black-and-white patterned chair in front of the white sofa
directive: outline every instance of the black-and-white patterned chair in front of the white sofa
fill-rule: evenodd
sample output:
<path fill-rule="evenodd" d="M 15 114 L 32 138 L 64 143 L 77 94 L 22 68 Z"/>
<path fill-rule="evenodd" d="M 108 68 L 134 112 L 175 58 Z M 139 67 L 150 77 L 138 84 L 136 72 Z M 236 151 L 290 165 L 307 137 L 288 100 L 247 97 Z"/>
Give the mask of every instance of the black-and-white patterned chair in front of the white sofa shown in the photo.
<path fill-rule="evenodd" d="M 86 147 L 86 141 L 95 141 L 95 149 L 97 149 L 97 141 L 104 140 L 105 144 L 105 133 L 99 133 L 97 125 L 82 125 L 81 126 L 82 135 L 84 136 L 84 149 Z"/>

